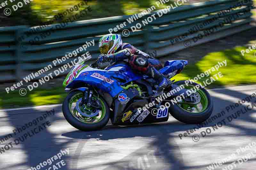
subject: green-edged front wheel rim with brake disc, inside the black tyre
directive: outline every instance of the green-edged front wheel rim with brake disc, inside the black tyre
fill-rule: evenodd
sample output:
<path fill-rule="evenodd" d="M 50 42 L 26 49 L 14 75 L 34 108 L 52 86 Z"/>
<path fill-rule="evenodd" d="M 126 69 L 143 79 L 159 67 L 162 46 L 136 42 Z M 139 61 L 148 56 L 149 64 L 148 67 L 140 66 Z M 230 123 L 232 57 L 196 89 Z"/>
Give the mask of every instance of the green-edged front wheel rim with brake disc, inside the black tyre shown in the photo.
<path fill-rule="evenodd" d="M 106 107 L 104 102 L 96 97 L 96 96 L 92 96 L 92 99 L 98 99 L 101 103 L 101 108 L 100 108 L 100 112 L 98 116 L 93 116 L 93 117 L 84 117 L 82 115 L 80 115 L 78 113 L 78 111 L 76 110 L 76 101 L 79 100 L 80 98 L 82 98 L 84 95 L 82 92 L 80 93 L 76 93 L 74 96 L 71 97 L 71 99 L 69 100 L 69 110 L 71 112 L 71 114 L 80 122 L 83 123 L 98 123 L 100 122 L 106 115 Z M 86 109 L 88 110 L 84 110 L 82 107 L 80 108 L 81 111 L 85 112 L 86 114 L 90 114 L 91 112 L 89 111 L 89 109 L 92 109 L 92 107 L 86 107 Z"/>

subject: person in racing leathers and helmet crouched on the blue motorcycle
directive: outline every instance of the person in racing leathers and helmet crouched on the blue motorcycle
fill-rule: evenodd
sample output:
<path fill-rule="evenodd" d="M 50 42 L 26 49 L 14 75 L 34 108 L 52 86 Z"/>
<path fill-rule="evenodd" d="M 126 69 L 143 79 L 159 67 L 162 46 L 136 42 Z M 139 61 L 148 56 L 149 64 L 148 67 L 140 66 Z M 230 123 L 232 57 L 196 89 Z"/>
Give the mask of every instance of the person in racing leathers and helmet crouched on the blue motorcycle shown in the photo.
<path fill-rule="evenodd" d="M 121 35 L 104 35 L 99 40 L 99 48 L 101 55 L 98 58 L 98 64 L 105 62 L 112 63 L 128 59 L 132 69 L 137 70 L 158 82 L 158 92 L 171 84 L 170 79 L 166 78 L 158 71 L 163 68 L 159 60 L 140 51 L 131 44 L 123 43 Z"/>

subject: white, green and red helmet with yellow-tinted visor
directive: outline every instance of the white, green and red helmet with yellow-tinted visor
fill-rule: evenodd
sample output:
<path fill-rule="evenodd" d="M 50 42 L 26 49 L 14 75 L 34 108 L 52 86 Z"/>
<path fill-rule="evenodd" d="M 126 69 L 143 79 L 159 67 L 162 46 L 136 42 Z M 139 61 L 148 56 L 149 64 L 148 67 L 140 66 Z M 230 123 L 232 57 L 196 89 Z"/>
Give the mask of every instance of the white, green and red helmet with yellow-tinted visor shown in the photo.
<path fill-rule="evenodd" d="M 107 34 L 100 38 L 99 48 L 101 54 L 114 54 L 123 42 L 120 34 Z"/>

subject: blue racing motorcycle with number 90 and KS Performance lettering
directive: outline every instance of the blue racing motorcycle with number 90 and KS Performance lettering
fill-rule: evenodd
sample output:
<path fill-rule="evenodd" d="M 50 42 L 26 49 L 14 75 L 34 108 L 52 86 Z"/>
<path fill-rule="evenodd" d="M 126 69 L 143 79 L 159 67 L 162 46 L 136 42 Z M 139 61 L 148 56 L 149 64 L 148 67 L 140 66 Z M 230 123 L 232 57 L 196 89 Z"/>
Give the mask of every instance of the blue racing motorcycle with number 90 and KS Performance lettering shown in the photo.
<path fill-rule="evenodd" d="M 159 70 L 167 78 L 179 74 L 187 60 L 166 61 Z M 134 125 L 168 121 L 169 114 L 183 123 L 201 123 L 213 111 L 209 93 L 199 84 L 171 80 L 157 92 L 157 83 L 134 72 L 125 61 L 111 63 L 104 70 L 97 60 L 76 64 L 63 86 L 68 92 L 62 104 L 63 115 L 76 129 L 83 131 L 113 125 Z"/>

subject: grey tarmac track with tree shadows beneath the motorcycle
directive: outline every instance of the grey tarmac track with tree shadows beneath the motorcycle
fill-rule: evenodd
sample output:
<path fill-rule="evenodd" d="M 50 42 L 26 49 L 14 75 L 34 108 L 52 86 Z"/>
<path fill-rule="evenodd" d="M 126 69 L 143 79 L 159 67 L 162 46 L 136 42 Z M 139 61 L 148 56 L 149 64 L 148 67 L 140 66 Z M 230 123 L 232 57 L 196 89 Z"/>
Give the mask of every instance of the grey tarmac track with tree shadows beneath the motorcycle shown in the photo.
<path fill-rule="evenodd" d="M 255 170 L 256 107 L 238 115 L 240 109 L 252 108 L 252 102 L 238 107 L 235 103 L 256 92 L 256 85 L 209 92 L 216 116 L 201 128 L 170 116 L 163 123 L 117 127 L 109 122 L 100 131 L 82 132 L 68 124 L 61 105 L 1 110 L 0 169 Z M 32 122 L 36 118 L 37 125 Z M 29 122 L 33 124 L 25 130 L 17 129 Z"/>

